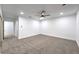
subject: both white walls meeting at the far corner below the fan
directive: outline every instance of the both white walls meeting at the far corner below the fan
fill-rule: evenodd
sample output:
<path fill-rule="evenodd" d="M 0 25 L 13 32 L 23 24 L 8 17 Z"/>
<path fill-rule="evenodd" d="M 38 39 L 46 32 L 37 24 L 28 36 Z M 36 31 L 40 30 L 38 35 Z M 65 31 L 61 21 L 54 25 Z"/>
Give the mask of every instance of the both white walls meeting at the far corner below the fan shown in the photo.
<path fill-rule="evenodd" d="M 76 40 L 76 15 L 58 17 L 41 22 L 19 17 L 19 39 L 37 34 Z"/>

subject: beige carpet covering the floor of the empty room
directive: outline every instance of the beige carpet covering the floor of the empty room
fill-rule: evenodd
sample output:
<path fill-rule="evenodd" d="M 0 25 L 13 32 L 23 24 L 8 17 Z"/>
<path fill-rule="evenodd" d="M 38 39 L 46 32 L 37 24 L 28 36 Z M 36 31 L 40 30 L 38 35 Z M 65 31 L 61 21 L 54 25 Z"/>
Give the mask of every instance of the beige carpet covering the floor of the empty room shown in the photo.
<path fill-rule="evenodd" d="M 75 41 L 61 38 L 36 35 L 17 40 L 10 38 L 2 44 L 3 54 L 78 54 L 79 48 Z"/>

